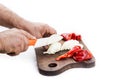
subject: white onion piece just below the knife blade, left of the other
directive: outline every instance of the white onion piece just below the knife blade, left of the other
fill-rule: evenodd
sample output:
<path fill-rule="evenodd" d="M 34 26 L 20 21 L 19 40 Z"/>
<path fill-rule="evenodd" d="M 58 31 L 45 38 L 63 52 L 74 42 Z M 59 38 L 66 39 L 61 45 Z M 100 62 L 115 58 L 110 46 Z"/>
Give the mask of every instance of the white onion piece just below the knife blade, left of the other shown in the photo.
<path fill-rule="evenodd" d="M 56 52 L 60 51 L 61 49 L 61 43 L 55 42 L 50 45 L 49 49 L 46 52 L 43 52 L 44 54 L 55 54 Z"/>

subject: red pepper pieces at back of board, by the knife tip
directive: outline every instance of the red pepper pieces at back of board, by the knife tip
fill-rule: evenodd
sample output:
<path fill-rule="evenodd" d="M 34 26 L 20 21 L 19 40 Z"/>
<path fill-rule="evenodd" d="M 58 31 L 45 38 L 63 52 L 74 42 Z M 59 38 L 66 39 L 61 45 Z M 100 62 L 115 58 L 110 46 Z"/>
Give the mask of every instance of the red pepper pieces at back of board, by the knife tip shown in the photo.
<path fill-rule="evenodd" d="M 81 35 L 76 35 L 75 33 L 63 33 L 61 34 L 65 41 L 67 40 L 81 40 Z"/>

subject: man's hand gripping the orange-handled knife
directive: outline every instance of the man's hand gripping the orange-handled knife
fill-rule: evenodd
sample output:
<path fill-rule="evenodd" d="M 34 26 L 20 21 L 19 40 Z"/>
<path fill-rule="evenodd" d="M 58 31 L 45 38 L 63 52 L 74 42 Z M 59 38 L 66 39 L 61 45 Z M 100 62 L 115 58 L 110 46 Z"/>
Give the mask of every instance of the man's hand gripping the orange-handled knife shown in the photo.
<path fill-rule="evenodd" d="M 0 32 L 0 51 L 14 52 L 17 55 L 27 50 L 29 39 L 35 39 L 35 37 L 21 29 L 14 28 Z"/>

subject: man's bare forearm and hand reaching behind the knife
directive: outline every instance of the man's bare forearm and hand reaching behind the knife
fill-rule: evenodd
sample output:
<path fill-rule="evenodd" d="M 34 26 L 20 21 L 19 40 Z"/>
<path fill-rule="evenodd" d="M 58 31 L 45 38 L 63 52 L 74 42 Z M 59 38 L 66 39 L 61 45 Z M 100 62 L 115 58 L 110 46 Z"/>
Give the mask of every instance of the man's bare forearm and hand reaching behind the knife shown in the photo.
<path fill-rule="evenodd" d="M 2 4 L 0 4 L 0 25 L 8 28 L 23 29 L 36 38 L 46 37 L 56 33 L 55 29 L 49 25 L 27 21 Z"/>

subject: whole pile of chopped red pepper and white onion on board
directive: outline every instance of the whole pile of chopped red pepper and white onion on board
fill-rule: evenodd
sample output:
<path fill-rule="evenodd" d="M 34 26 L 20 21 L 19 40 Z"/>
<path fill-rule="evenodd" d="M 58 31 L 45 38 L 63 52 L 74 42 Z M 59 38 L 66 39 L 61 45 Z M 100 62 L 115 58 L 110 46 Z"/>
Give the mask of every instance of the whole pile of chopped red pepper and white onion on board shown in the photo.
<path fill-rule="evenodd" d="M 59 41 L 55 42 L 58 38 L 60 38 L 59 40 L 64 40 L 64 43 L 61 44 Z M 69 50 L 63 55 L 58 56 L 55 60 L 59 61 L 66 58 L 73 58 L 78 62 L 89 60 L 93 57 L 93 55 L 89 50 L 83 49 L 84 46 L 79 42 L 81 40 L 81 35 L 77 35 L 75 33 L 63 33 L 58 37 L 52 36 L 50 41 L 53 43 L 49 46 L 49 49 L 43 53 L 55 54 L 56 52 L 62 50 Z"/>

